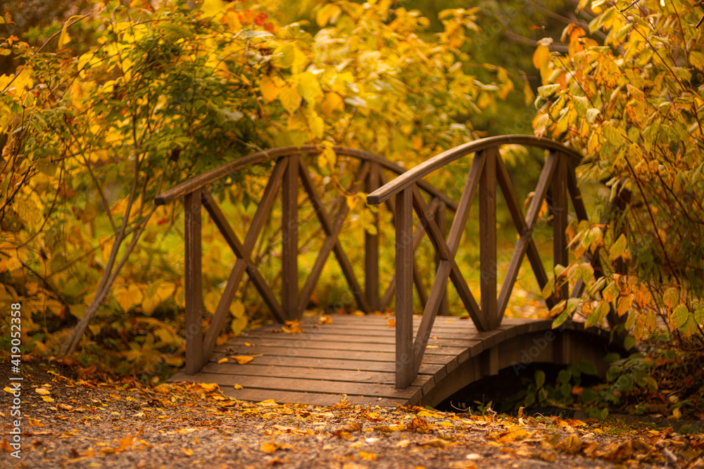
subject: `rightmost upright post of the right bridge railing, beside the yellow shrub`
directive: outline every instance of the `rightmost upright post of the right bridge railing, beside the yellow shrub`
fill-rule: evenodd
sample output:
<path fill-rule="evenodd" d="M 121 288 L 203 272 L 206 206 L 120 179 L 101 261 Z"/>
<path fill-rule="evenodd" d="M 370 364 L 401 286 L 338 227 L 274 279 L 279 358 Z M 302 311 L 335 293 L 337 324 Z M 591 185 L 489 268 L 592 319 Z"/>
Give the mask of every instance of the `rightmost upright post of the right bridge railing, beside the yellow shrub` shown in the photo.
<path fill-rule="evenodd" d="M 558 153 L 558 167 L 553 174 L 553 259 L 555 265 L 566 267 L 570 262 L 567 252 L 567 165 L 565 157 Z M 560 288 L 560 298 L 570 296 L 570 285 L 565 282 Z"/>

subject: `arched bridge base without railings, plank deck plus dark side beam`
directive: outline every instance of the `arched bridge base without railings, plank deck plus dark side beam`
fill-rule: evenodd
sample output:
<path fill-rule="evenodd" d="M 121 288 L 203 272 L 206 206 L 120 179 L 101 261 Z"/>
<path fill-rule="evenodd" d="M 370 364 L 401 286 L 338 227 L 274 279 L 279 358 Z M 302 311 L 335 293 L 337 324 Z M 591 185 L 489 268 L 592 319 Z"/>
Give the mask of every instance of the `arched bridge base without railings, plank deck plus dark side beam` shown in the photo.
<path fill-rule="evenodd" d="M 430 405 L 475 380 L 532 361 L 570 364 L 593 361 L 605 373 L 608 333 L 582 323 L 551 329 L 550 320 L 504 319 L 496 330 L 479 332 L 472 321 L 439 316 L 432 329 L 420 373 L 406 389 L 396 389 L 394 316 L 332 316 L 301 321 L 303 333 L 264 326 L 217 347 L 195 375 L 183 371 L 172 381 L 218 383 L 225 394 L 246 401 L 337 404 Z M 420 316 L 414 316 L 414 326 Z M 239 364 L 234 356 L 252 356 Z M 227 361 L 223 360 L 227 359 Z M 220 363 L 222 361 L 222 363 Z M 241 388 L 240 388 L 241 387 Z"/>

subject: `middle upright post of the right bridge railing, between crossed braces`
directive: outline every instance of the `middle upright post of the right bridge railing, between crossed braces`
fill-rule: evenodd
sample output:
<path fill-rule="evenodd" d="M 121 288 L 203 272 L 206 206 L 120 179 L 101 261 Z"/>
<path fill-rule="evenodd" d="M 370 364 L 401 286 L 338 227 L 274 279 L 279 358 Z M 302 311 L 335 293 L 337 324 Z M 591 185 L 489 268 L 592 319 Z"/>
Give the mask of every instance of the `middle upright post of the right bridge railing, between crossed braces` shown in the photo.
<path fill-rule="evenodd" d="M 489 328 L 499 326 L 496 307 L 496 158 L 497 149 L 486 150 L 479 179 L 479 262 L 482 270 L 482 315 Z"/>

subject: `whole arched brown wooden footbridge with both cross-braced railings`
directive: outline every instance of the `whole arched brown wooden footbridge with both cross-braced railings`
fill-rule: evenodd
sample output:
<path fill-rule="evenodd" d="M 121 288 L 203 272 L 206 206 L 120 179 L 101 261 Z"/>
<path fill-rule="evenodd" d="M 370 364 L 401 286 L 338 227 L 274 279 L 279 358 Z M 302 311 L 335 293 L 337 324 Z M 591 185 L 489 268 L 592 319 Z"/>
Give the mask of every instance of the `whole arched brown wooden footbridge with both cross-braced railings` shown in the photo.
<path fill-rule="evenodd" d="M 501 158 L 500 149 L 505 145 L 546 151 L 546 162 L 525 215 Z M 569 263 L 565 230 L 570 202 L 574 216 L 587 219 L 574 174 L 574 167 L 581 158 L 579 154 L 549 139 L 501 136 L 466 143 L 406 171 L 377 155 L 335 147 L 337 155 L 350 159 L 346 170 L 354 174 L 342 190 L 351 194 L 363 186 L 363 191 L 369 194 L 367 203 L 386 205 L 395 226 L 395 268 L 390 280 L 383 285 L 379 275 L 379 250 L 391 249 L 391 243 L 380 245 L 379 219 L 375 221 L 376 233 L 360 233 L 365 240 L 362 288 L 341 242 L 348 204 L 342 198 L 337 206 L 329 207 L 331 204 L 318 193 L 314 173 L 306 164 L 306 158 L 317 157 L 321 151 L 322 148 L 303 146 L 254 153 L 190 179 L 156 198 L 157 204 L 183 198 L 185 207 L 186 366 L 172 379 L 218 383 L 227 394 L 246 400 L 273 398 L 329 405 L 346 394 L 354 403 L 435 405 L 474 380 L 495 375 L 510 366 L 517 368 L 532 361 L 569 364 L 581 359 L 603 366 L 601 358 L 613 348 L 603 330 L 585 330 L 581 323 L 571 321 L 559 330 L 552 330 L 549 320 L 503 317 L 524 257 L 528 257 L 539 287 L 542 289 L 548 283 L 548 274 L 533 238 L 548 191 L 553 214 L 553 262 L 563 266 Z M 424 178 L 460 158 L 471 158 L 471 164 L 467 165 L 464 188 L 455 201 Z M 351 161 L 356 161 L 356 166 Z M 225 176 L 271 162 L 273 169 L 268 184 L 249 231 L 241 240 L 207 186 Z M 394 179 L 386 182 L 389 174 Z M 497 183 L 518 238 L 500 289 L 497 285 Z M 299 274 L 303 269 L 298 265 L 298 224 L 304 193 L 325 236 L 301 287 Z M 455 259 L 477 193 L 479 214 L 472 220 L 479 225 L 479 302 Z M 277 199 L 281 207 L 281 268 L 279 275 L 267 279 L 252 253 Z M 237 256 L 205 332 L 203 320 L 208 313 L 203 308 L 201 285 L 201 207 L 206 208 Z M 449 230 L 448 218 L 451 218 Z M 414 258 L 426 235 L 436 260 L 429 292 L 427 282 L 423 281 L 427 267 L 424 270 Z M 301 319 L 332 252 L 351 298 L 358 309 L 367 314 L 332 316 L 332 321 L 322 322 L 315 318 Z M 592 263 L 598 275 L 601 271 L 598 256 L 593 257 Z M 282 326 L 265 326 L 225 345 L 215 346 L 245 273 L 274 318 L 279 323 L 301 319 L 302 333 L 282 333 Z M 448 281 L 453 283 L 468 312 L 468 320 L 448 316 Z M 565 282 L 546 300 L 546 305 L 553 307 L 569 296 L 579 297 L 583 288 L 581 279 L 574 285 Z M 274 293 L 276 289 L 280 290 L 279 298 Z M 422 315 L 413 314 L 414 298 Z M 387 309 L 392 300 L 395 300 L 394 316 L 373 314 Z M 241 365 L 231 358 L 234 356 L 255 358 Z"/>

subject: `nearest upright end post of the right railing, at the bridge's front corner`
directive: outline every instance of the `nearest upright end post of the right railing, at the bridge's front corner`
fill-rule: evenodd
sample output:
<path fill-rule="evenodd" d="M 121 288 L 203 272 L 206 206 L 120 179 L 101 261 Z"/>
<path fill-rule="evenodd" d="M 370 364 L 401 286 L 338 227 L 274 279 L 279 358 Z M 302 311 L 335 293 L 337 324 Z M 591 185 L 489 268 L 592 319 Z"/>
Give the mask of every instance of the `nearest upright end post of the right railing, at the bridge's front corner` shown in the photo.
<path fill-rule="evenodd" d="M 398 389 L 408 387 L 416 374 L 413 364 L 413 186 L 396 194 L 396 387 Z"/>

